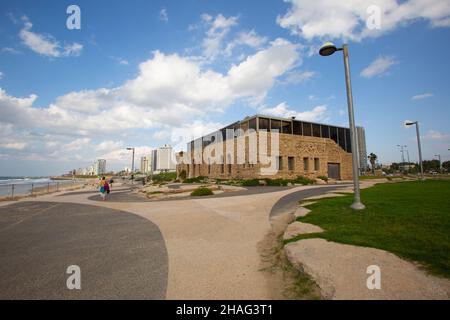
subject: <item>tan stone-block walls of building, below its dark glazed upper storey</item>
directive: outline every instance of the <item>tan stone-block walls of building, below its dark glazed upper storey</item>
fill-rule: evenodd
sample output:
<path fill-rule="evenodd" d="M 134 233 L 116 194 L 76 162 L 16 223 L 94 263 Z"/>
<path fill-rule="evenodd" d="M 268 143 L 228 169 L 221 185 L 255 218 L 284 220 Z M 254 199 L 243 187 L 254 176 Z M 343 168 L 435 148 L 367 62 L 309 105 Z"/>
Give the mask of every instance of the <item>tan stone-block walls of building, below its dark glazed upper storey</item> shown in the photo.
<path fill-rule="evenodd" d="M 256 133 L 259 137 L 259 133 Z M 268 150 L 270 150 L 270 133 L 267 135 Z M 194 152 L 188 154 L 190 163 L 182 163 L 177 165 L 177 172 L 186 171 L 187 177 L 208 176 L 215 179 L 253 179 L 253 178 L 295 178 L 297 176 L 305 176 L 315 178 L 318 176 L 328 176 L 328 163 L 340 164 L 340 175 L 342 180 L 352 179 L 352 154 L 343 150 L 336 142 L 329 138 L 317 138 L 292 134 L 279 134 L 279 156 L 281 157 L 281 168 L 274 175 L 264 175 L 261 168 L 268 167 L 260 163 L 260 157 L 255 164 L 249 163 L 249 138 L 245 138 L 245 162 L 236 164 L 237 162 L 237 140 L 234 139 L 234 164 L 231 162 L 231 154 L 225 153 L 226 143 L 223 143 L 222 155 L 217 158 L 225 159 L 225 164 L 214 164 L 214 159 L 210 160 L 208 165 L 208 157 L 204 157 L 203 164 L 194 163 L 194 158 L 200 159 L 200 153 L 196 155 Z M 242 138 L 240 138 L 242 139 Z M 259 150 L 259 139 L 256 139 L 256 146 Z M 242 141 L 242 140 L 241 140 Z M 231 142 L 231 141 L 229 141 Z M 255 140 L 253 140 L 255 143 Z M 243 145 L 243 144 L 242 144 Z M 209 149 L 208 149 L 209 148 Z M 203 154 L 216 156 L 214 146 L 208 146 L 203 149 Z M 256 149 L 255 149 L 256 151 Z M 270 154 L 270 152 L 269 152 Z M 288 169 L 288 158 L 293 157 L 293 168 Z M 315 160 L 318 159 L 318 160 Z M 228 161 L 227 161 L 228 160 Z M 318 162 L 317 162 L 318 161 Z M 307 167 L 305 167 L 305 164 Z M 318 167 L 316 167 L 316 165 Z"/>

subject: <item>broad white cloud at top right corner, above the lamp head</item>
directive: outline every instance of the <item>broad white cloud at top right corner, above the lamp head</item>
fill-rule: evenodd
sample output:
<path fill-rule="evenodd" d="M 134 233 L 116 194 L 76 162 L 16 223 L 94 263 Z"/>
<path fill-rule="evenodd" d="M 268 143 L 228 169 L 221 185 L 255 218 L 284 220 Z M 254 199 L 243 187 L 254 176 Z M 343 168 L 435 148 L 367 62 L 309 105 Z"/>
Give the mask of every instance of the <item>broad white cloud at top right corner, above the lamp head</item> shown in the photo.
<path fill-rule="evenodd" d="M 376 37 L 415 20 L 426 20 L 432 27 L 450 26 L 450 2 L 442 0 L 285 0 L 288 12 L 278 16 L 278 24 L 306 39 L 350 39 Z M 369 29 L 369 6 L 381 9 L 380 29 Z"/>

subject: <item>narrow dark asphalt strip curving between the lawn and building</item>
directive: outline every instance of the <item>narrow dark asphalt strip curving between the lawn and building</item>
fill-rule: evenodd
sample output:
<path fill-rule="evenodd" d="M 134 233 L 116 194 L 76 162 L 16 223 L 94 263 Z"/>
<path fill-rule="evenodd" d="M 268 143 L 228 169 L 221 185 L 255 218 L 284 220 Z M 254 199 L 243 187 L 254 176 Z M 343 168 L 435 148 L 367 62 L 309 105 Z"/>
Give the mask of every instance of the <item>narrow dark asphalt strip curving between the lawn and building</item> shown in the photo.
<path fill-rule="evenodd" d="M 297 206 L 298 201 L 308 197 L 319 196 L 328 191 L 333 191 L 339 188 L 345 188 L 348 185 L 336 185 L 336 186 L 327 186 L 327 187 L 319 187 L 313 189 L 300 190 L 296 192 L 292 192 L 288 195 L 285 195 L 281 199 L 279 199 L 275 205 L 272 207 L 270 211 L 270 217 L 282 214 L 293 212 Z"/>

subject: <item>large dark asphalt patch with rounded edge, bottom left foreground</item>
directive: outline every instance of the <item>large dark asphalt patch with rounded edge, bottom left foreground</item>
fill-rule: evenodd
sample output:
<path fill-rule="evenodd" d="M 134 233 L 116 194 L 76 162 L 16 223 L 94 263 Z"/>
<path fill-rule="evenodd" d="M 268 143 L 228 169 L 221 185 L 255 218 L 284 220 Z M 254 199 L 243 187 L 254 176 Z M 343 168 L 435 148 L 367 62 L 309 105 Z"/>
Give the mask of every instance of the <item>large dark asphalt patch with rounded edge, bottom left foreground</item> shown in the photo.
<path fill-rule="evenodd" d="M 81 290 L 66 286 L 81 269 Z M 0 207 L 0 299 L 164 299 L 159 228 L 109 208 L 56 202 Z"/>

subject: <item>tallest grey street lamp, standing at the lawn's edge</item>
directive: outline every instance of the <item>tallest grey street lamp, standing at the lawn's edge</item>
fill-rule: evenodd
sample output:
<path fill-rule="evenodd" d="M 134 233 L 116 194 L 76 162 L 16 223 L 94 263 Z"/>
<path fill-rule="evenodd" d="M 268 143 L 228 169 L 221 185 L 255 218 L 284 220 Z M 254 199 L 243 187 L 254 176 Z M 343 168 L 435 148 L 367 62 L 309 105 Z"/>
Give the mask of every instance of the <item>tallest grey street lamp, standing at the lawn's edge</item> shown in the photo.
<path fill-rule="evenodd" d="M 330 56 L 336 51 L 343 51 L 344 53 L 344 68 L 345 68 L 345 86 L 347 89 L 347 104 L 348 104 L 348 120 L 350 124 L 350 135 L 352 140 L 352 167 L 353 167 L 353 189 L 355 191 L 353 204 L 351 208 L 354 210 L 362 210 L 365 206 L 361 202 L 361 194 L 359 190 L 359 174 L 358 174 L 358 152 L 356 142 L 356 127 L 355 115 L 353 112 L 353 96 L 352 84 L 350 80 L 350 65 L 348 57 L 348 45 L 344 44 L 342 48 L 337 48 L 332 42 L 326 42 L 319 50 L 321 56 Z"/>

